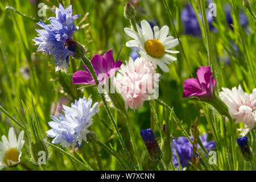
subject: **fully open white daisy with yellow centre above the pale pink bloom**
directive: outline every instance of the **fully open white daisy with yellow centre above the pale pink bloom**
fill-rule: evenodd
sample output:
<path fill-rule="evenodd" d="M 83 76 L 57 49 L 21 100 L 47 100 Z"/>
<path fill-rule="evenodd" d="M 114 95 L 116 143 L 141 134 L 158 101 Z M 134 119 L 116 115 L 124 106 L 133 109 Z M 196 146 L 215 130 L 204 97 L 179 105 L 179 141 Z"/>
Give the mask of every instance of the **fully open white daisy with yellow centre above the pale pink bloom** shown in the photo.
<path fill-rule="evenodd" d="M 126 46 L 138 47 L 142 57 L 150 60 L 155 67 L 159 65 L 164 72 L 168 72 L 169 68 L 166 64 L 177 60 L 176 57 L 171 56 L 169 53 L 179 53 L 179 51 L 172 51 L 170 49 L 177 46 L 179 40 L 168 36 L 168 26 L 163 26 L 160 30 L 158 26 L 154 26 L 154 32 L 146 20 L 142 20 L 142 28 L 138 24 L 136 26 L 138 32 L 132 28 L 125 28 L 126 34 L 134 39 L 127 42 Z"/>

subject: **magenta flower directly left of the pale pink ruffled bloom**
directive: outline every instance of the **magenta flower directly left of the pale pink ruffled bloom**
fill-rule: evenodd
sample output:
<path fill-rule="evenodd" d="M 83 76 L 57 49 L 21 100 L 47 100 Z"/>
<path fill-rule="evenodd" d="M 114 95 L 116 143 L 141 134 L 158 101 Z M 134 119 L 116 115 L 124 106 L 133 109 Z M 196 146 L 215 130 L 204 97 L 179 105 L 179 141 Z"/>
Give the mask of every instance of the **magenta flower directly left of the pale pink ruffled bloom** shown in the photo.
<path fill-rule="evenodd" d="M 98 81 L 104 81 L 108 77 L 113 76 L 117 69 L 122 65 L 122 61 L 117 61 L 115 63 L 113 58 L 113 50 L 106 52 L 103 56 L 94 55 L 92 58 L 93 69 L 97 75 Z M 84 65 L 86 71 L 77 71 L 73 75 L 73 84 L 95 84 L 92 75 L 90 75 L 89 70 Z"/>

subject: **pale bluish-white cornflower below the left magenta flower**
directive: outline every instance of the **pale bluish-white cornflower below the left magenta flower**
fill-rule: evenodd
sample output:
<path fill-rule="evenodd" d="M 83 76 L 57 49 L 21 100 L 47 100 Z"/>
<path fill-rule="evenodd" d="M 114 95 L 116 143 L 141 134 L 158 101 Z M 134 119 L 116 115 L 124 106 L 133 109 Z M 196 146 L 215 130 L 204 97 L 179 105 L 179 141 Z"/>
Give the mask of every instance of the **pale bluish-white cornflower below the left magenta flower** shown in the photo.
<path fill-rule="evenodd" d="M 75 100 L 75 104 L 71 107 L 63 105 L 63 114 L 59 114 L 59 119 L 51 115 L 53 121 L 48 122 L 52 127 L 46 133 L 48 137 L 54 138 L 52 143 L 60 143 L 62 147 L 75 147 L 78 143 L 79 146 L 82 140 L 86 140 L 86 134 L 90 133 L 88 127 L 92 125 L 92 117 L 98 112 L 96 102 L 92 106 L 92 100 L 87 101 L 86 98 L 79 98 Z M 92 106 L 92 107 L 91 107 Z"/>

